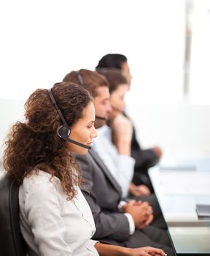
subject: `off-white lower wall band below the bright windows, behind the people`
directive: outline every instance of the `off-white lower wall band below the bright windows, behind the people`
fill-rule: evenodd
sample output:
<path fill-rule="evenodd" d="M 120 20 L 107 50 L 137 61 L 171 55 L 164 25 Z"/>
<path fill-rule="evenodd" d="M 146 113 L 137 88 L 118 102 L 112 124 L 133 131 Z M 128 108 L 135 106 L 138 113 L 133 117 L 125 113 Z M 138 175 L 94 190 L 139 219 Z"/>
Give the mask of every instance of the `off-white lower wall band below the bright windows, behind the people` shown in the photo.
<path fill-rule="evenodd" d="M 15 121 L 23 120 L 23 104 L 23 99 L 0 99 L 1 143 L 9 127 Z M 160 146 L 163 148 L 163 160 L 210 158 L 210 106 L 130 102 L 128 113 L 141 146 Z"/>

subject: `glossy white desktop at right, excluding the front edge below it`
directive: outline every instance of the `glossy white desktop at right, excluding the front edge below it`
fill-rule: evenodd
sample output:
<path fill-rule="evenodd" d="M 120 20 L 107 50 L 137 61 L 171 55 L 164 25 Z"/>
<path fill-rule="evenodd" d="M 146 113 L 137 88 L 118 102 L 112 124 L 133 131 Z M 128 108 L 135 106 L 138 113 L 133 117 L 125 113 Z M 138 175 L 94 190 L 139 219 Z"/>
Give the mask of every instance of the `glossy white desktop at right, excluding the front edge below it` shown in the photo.
<path fill-rule="evenodd" d="M 166 222 L 203 222 L 198 219 L 195 205 L 210 204 L 210 167 L 209 172 L 153 167 L 149 177 Z"/>

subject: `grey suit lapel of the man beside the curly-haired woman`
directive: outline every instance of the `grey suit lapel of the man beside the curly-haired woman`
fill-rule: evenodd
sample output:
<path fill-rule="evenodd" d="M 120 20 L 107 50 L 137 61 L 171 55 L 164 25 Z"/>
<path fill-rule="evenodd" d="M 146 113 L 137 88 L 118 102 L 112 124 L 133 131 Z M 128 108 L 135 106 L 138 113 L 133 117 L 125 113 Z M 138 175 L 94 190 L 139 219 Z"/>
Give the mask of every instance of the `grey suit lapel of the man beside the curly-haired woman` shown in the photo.
<path fill-rule="evenodd" d="M 93 158 L 93 160 L 96 162 L 96 164 L 103 170 L 104 174 L 106 175 L 107 178 L 109 178 L 109 181 L 112 183 L 114 188 L 120 192 L 122 195 L 122 190 L 120 188 L 120 185 L 115 181 L 114 177 L 112 174 L 109 172 L 108 168 L 106 165 L 104 165 L 104 162 L 101 160 L 101 158 L 98 156 L 98 153 L 96 151 L 89 151 L 90 156 Z"/>

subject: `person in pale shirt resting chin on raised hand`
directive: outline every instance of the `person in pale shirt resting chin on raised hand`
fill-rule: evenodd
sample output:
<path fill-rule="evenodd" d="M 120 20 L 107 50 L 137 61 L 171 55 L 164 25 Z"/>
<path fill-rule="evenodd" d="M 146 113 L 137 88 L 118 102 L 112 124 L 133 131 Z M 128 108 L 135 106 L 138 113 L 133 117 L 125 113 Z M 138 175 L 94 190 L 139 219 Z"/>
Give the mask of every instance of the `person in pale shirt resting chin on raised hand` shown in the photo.
<path fill-rule="evenodd" d="M 128 197 L 128 192 L 134 196 L 150 195 L 149 188 L 144 184 L 136 186 L 131 183 L 136 162 L 131 157 L 133 126 L 130 119 L 123 114 L 124 97 L 129 90 L 128 82 L 118 69 L 103 69 L 101 74 L 109 82 L 112 111 L 109 113 L 109 126 L 104 125 L 98 129 L 95 143 L 97 152 L 120 184 L 123 197 Z"/>

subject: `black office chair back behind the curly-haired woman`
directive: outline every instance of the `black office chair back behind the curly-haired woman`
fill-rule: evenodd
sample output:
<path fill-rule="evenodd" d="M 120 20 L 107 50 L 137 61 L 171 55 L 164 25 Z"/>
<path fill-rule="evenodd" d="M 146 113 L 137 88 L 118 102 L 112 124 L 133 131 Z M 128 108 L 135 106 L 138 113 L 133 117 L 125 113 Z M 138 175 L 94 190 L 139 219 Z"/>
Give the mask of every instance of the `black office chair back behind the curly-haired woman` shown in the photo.
<path fill-rule="evenodd" d="M 0 255 L 26 256 L 26 243 L 20 232 L 18 185 L 4 174 L 0 178 Z"/>

